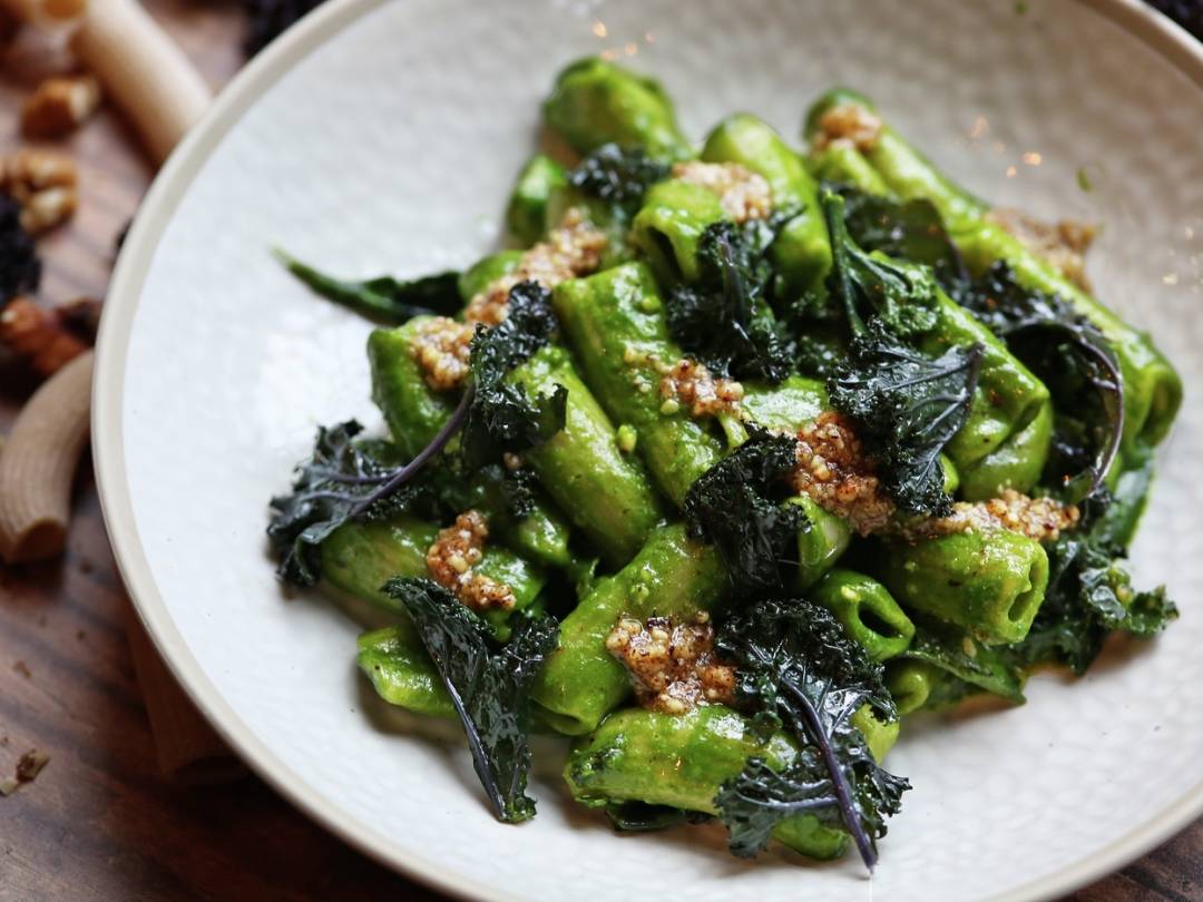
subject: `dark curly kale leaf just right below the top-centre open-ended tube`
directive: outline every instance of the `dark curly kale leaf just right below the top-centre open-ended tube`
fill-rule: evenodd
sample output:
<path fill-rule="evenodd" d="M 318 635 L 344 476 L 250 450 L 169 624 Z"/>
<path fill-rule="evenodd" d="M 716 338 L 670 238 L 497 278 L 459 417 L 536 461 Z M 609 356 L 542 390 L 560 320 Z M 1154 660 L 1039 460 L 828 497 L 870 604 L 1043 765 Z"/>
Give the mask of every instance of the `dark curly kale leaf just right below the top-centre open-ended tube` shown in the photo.
<path fill-rule="evenodd" d="M 698 242 L 698 281 L 669 293 L 669 333 L 712 373 L 769 382 L 789 375 L 794 349 L 765 301 L 772 280 L 765 253 L 789 219 L 709 225 Z"/>

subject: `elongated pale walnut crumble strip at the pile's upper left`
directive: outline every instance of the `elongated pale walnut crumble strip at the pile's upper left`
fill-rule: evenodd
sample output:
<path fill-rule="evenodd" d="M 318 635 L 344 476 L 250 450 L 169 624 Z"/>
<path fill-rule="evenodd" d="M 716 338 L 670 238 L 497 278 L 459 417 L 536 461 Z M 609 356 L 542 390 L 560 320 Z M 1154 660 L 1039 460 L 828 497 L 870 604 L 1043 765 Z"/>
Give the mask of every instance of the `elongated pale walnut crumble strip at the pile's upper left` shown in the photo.
<path fill-rule="evenodd" d="M 520 281 L 537 281 L 551 290 L 565 279 L 588 275 L 600 266 L 605 244 L 605 233 L 594 229 L 579 209 L 568 210 L 559 227 L 527 250 L 512 272 L 494 279 L 468 302 L 464 319 L 496 326 L 505 319 L 510 289 Z"/>

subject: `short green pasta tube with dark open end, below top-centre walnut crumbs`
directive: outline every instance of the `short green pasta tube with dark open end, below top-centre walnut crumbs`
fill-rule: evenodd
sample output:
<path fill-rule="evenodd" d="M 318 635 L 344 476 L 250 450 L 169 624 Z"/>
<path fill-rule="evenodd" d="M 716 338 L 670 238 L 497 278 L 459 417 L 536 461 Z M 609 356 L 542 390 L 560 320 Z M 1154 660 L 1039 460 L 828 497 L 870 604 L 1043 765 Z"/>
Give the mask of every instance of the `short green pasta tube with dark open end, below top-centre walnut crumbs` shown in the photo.
<path fill-rule="evenodd" d="M 692 182 L 669 179 L 647 191 L 632 224 L 630 241 L 662 284 L 698 279 L 698 242 L 723 218 L 718 196 Z"/>

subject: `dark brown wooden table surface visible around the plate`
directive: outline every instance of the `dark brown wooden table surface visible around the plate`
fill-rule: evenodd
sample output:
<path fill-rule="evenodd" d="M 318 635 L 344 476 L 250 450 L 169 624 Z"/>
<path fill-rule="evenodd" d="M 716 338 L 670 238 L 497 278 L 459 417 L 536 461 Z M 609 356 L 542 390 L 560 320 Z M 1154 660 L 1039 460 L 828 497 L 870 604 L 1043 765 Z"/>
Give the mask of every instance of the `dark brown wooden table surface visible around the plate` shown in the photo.
<path fill-rule="evenodd" d="M 213 85 L 242 64 L 236 4 L 147 0 Z M 0 73 L 0 147 L 18 142 L 29 85 Z M 42 297 L 103 295 L 113 242 L 150 170 L 103 109 L 71 141 L 83 202 L 46 237 Z M 0 358 L 0 431 L 31 380 Z M 67 556 L 0 565 L 0 778 L 40 748 L 37 781 L 0 797 L 0 900 L 438 898 L 325 833 L 259 779 L 188 789 L 160 777 L 125 642 L 129 604 L 105 536 L 90 462 Z M 1073 900 L 1203 900 L 1203 821 Z"/>

